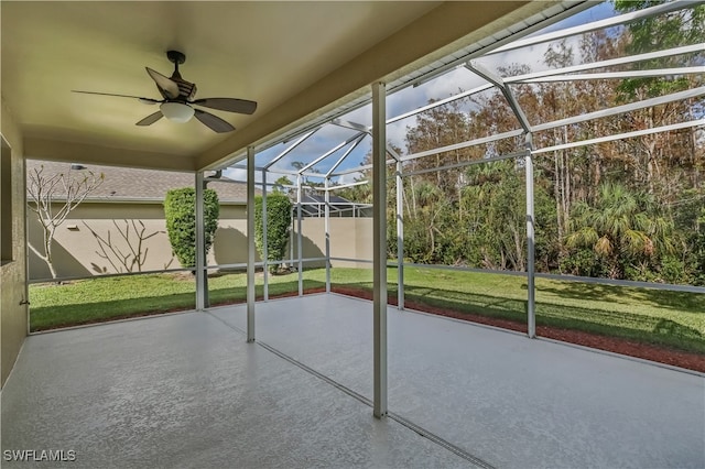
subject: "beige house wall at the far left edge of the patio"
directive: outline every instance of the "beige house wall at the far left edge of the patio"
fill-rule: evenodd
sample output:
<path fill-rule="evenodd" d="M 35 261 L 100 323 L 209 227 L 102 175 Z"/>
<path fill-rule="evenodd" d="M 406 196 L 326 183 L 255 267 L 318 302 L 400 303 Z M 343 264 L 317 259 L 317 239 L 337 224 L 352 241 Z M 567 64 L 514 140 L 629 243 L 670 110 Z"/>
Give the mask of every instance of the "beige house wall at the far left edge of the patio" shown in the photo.
<path fill-rule="evenodd" d="M 1 175 L 1 183 L 11 184 L 11 207 L 2 200 L 2 210 L 12 211 L 12 261 L 0 266 L 0 386 L 4 385 L 18 358 L 22 342 L 26 337 L 28 307 L 26 299 L 26 253 L 24 225 L 24 159 L 22 157 L 22 139 L 13 123 L 12 116 L 0 103 L 0 133 L 9 144 L 4 149 L 10 156 L 10 174 Z M 10 176 L 10 177 L 8 177 Z M 4 230 L 3 230 L 4 232 Z"/>

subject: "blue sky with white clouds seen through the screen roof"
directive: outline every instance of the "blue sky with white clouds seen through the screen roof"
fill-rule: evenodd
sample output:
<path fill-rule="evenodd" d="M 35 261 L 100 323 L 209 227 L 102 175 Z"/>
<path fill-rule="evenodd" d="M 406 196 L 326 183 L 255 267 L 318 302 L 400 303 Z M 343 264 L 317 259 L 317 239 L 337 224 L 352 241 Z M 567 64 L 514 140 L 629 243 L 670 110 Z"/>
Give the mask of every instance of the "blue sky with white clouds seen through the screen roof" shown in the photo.
<path fill-rule="evenodd" d="M 600 3 L 596 7 L 589 8 L 581 13 L 577 13 L 571 18 L 567 18 L 558 23 L 555 23 L 549 28 L 538 31 L 531 35 L 544 34 L 547 32 L 575 26 L 578 24 L 585 24 L 593 21 L 598 21 L 605 18 L 615 15 L 614 9 L 610 2 Z M 576 45 L 579 42 L 579 37 L 570 37 L 567 40 L 568 45 Z M 497 72 L 498 67 L 507 64 L 525 64 L 532 72 L 539 72 L 547 68 L 543 64 L 543 55 L 546 52 L 551 43 L 540 44 L 535 46 L 523 47 L 521 50 L 509 51 L 501 54 L 492 54 L 484 56 L 477 59 L 477 62 L 488 68 L 489 70 Z M 574 47 L 574 51 L 576 48 Z M 448 73 L 422 84 L 417 87 L 408 87 L 398 92 L 388 95 L 387 97 L 387 116 L 388 118 L 399 116 L 403 112 L 414 110 L 419 107 L 425 106 L 430 100 L 445 99 L 452 95 L 457 94 L 459 90 L 473 89 L 477 86 L 484 85 L 486 81 L 473 74 L 465 67 L 458 67 L 452 69 Z M 486 91 L 486 92 L 491 92 Z M 365 106 L 358 110 L 355 110 L 343 118 L 356 123 L 365 126 L 371 124 L 371 105 Z M 387 127 L 387 139 L 390 143 L 404 149 L 404 137 L 406 134 L 408 127 L 413 127 L 415 123 L 415 117 L 406 118 L 393 124 Z M 280 162 L 275 163 L 272 168 L 293 170 L 292 163 L 303 162 L 308 163 L 314 159 L 325 154 L 335 148 L 338 143 L 350 139 L 355 135 L 355 131 L 344 129 L 337 126 L 325 126 L 317 131 L 314 135 L 307 139 L 304 143 L 289 153 Z M 279 144 L 261 153 L 258 153 L 256 157 L 256 164 L 258 166 L 269 162 L 272 157 L 280 154 L 284 149 L 291 145 L 289 142 L 286 145 Z M 332 165 L 338 161 L 343 153 L 348 149 L 346 146 L 339 151 L 333 153 L 329 157 L 325 159 L 321 164 L 315 166 L 321 173 L 327 172 Z M 354 168 L 361 164 L 365 156 L 371 149 L 371 139 L 367 137 L 340 164 L 337 171 Z M 246 181 L 247 172 L 245 168 L 228 168 L 225 171 L 227 177 Z M 276 179 L 280 175 L 272 174 L 268 176 L 268 182 Z M 338 184 L 346 184 L 354 182 L 359 177 L 360 173 L 351 173 L 341 176 L 337 179 Z M 290 178 L 292 178 L 290 176 Z M 293 179 L 293 178 L 292 178 Z M 322 179 L 323 181 L 323 179 Z M 257 182 L 261 182 L 261 172 L 257 174 Z"/>

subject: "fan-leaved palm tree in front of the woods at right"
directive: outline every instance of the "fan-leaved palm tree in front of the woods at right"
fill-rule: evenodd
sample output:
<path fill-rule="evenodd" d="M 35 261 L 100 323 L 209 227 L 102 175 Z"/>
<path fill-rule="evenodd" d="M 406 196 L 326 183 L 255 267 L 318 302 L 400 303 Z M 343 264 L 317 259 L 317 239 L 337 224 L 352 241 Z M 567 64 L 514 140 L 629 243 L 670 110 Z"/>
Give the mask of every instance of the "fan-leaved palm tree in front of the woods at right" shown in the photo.
<path fill-rule="evenodd" d="M 568 248 L 592 248 L 610 279 L 625 268 L 672 253 L 673 221 L 659 215 L 650 195 L 619 183 L 603 183 L 594 205 L 577 203 L 571 218 Z"/>

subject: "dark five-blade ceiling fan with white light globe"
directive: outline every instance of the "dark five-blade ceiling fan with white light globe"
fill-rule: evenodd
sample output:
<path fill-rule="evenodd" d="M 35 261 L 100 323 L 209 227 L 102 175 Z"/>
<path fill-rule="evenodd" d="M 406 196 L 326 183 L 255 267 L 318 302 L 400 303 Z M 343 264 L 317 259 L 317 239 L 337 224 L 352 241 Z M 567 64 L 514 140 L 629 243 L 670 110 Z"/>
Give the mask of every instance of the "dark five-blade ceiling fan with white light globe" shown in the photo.
<path fill-rule="evenodd" d="M 178 73 L 178 65 L 186 62 L 186 56 L 178 51 L 166 52 L 166 57 L 174 64 L 174 73 L 171 77 L 166 77 L 159 72 L 147 68 L 147 73 L 156 84 L 160 95 L 164 99 L 142 98 L 139 96 L 130 95 L 116 95 L 111 92 L 97 92 L 97 91 L 77 91 L 86 95 L 101 95 L 101 96 L 117 96 L 120 98 L 134 98 L 145 105 L 160 105 L 160 110 L 149 114 L 141 121 L 137 122 L 137 126 L 151 126 L 162 117 L 174 122 L 187 122 L 192 117 L 196 117 L 206 127 L 215 132 L 224 133 L 235 130 L 230 123 L 220 119 L 217 116 L 206 112 L 194 106 L 200 106 L 204 108 L 217 109 L 220 111 L 238 112 L 243 114 L 251 114 L 257 109 L 256 101 L 248 101 L 246 99 L 237 98 L 202 98 L 194 99 L 196 96 L 196 85 L 186 81 L 181 77 Z"/>

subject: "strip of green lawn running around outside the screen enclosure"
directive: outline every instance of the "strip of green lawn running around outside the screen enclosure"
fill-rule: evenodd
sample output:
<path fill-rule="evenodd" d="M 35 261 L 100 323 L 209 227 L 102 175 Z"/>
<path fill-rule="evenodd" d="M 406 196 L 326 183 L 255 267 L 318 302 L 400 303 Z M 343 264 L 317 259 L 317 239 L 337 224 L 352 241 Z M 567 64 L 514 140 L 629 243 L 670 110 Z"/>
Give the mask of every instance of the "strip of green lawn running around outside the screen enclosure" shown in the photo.
<path fill-rule="evenodd" d="M 335 268 L 334 286 L 370 292 L 371 270 Z M 303 274 L 304 288 L 325 287 L 325 270 Z M 388 272 L 390 297 L 397 271 Z M 256 291 L 262 296 L 262 276 Z M 212 305 L 243 302 L 246 275 L 208 279 Z M 269 295 L 299 291 L 296 274 L 269 277 Z M 32 285 L 31 328 L 43 330 L 132 315 L 192 309 L 195 281 L 189 275 L 134 275 Z M 408 302 L 525 323 L 524 277 L 437 269 L 406 268 Z M 536 324 L 577 329 L 705 353 L 705 295 L 662 290 L 595 285 L 536 279 Z"/>

